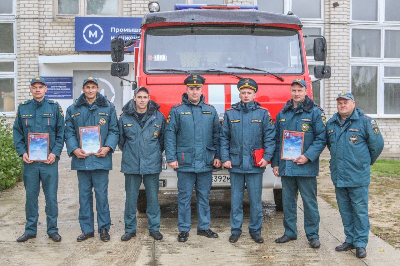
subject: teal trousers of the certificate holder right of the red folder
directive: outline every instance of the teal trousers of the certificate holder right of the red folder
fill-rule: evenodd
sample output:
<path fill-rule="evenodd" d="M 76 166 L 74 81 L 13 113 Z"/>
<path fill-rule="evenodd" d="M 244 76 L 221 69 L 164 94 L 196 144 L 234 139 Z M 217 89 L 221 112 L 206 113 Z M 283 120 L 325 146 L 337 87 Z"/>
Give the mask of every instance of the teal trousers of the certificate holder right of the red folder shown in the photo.
<path fill-rule="evenodd" d="M 319 239 L 320 213 L 317 202 L 316 177 L 288 177 L 282 176 L 283 199 L 283 226 L 285 234 L 297 237 L 297 192 L 303 200 L 304 230 L 308 241 L 312 238 Z"/>

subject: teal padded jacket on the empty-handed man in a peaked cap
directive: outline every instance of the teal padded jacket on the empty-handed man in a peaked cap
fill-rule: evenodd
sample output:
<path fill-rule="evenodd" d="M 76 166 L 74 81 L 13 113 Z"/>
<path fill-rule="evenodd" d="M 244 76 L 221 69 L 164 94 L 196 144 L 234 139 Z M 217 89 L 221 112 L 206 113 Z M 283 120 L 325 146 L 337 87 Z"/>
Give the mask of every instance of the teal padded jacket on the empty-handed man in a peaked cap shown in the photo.
<path fill-rule="evenodd" d="M 214 158 L 220 159 L 220 127 L 216 109 L 204 102 L 204 95 L 194 105 L 184 93 L 182 102 L 171 108 L 166 121 L 167 163 L 178 161 L 175 171 L 212 171 Z"/>

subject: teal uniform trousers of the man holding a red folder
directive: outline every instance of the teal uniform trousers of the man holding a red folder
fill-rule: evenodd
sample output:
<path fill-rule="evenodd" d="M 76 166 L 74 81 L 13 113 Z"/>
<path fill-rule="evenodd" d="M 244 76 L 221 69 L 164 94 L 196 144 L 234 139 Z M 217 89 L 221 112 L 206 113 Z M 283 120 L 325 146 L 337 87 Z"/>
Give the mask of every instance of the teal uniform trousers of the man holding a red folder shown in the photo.
<path fill-rule="evenodd" d="M 241 235 L 243 224 L 243 197 L 246 184 L 250 203 L 250 236 L 261 234 L 262 227 L 262 173 L 242 174 L 230 172 L 230 226 L 231 233 Z"/>

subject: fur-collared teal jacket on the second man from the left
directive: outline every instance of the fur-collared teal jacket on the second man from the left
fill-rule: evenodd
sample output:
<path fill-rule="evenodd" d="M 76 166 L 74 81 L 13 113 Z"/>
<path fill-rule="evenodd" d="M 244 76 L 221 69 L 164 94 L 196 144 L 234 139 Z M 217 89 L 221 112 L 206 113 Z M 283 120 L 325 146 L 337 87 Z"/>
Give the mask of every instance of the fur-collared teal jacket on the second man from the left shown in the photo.
<path fill-rule="evenodd" d="M 79 127 L 100 125 L 102 147 L 110 147 L 110 152 L 105 157 L 89 155 L 78 159 L 73 153 L 81 147 Z M 72 157 L 72 170 L 112 170 L 112 153 L 118 143 L 119 131 L 117 114 L 114 104 L 107 97 L 97 93 L 97 98 L 92 107 L 89 107 L 82 93 L 74 104 L 67 108 L 65 121 L 65 143 L 69 157 Z"/>

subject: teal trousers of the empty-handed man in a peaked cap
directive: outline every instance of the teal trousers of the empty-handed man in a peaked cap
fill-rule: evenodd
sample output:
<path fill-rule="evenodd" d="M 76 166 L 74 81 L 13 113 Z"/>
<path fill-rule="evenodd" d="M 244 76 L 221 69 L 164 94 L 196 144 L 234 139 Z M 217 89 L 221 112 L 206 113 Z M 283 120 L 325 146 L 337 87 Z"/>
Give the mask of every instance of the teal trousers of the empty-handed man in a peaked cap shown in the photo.
<path fill-rule="evenodd" d="M 176 172 L 178 176 L 178 229 L 189 232 L 192 226 L 190 219 L 190 200 L 193 187 L 197 198 L 197 230 L 210 229 L 210 189 L 212 171 L 203 173 Z"/>

